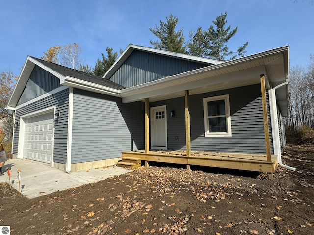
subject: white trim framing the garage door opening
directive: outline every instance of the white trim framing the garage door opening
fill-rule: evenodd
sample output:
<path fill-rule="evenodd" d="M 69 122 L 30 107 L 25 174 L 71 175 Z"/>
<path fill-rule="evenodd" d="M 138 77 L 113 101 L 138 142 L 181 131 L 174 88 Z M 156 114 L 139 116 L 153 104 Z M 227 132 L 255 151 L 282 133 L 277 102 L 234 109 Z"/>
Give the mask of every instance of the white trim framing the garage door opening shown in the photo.
<path fill-rule="evenodd" d="M 24 136 L 25 136 L 25 119 L 31 118 L 34 116 L 46 114 L 46 113 L 55 113 L 56 106 L 50 106 L 41 110 L 37 110 L 25 115 L 20 116 L 20 124 L 19 124 L 19 142 L 18 142 L 18 158 L 23 158 L 23 151 L 24 151 Z M 53 130 L 52 130 L 52 159 L 51 159 L 51 166 L 53 167 L 53 145 L 54 145 L 54 123 L 53 123 Z"/>

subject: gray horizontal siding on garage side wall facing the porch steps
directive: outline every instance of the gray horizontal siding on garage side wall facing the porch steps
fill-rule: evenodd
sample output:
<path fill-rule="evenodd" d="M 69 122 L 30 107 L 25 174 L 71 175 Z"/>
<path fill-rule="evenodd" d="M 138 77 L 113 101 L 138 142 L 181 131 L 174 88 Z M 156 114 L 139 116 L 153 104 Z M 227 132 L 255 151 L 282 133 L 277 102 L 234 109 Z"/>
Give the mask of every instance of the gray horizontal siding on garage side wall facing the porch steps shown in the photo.
<path fill-rule="evenodd" d="M 144 103 L 79 89 L 73 96 L 72 164 L 144 148 Z"/>

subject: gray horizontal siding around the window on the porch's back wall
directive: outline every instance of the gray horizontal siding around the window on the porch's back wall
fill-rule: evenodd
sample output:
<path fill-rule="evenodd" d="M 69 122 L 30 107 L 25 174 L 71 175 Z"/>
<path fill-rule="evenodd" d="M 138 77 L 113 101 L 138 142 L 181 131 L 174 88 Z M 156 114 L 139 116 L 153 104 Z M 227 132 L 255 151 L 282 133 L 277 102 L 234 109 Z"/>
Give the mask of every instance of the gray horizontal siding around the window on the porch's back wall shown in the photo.
<path fill-rule="evenodd" d="M 229 94 L 232 137 L 205 137 L 203 98 L 224 94 Z M 192 151 L 266 153 L 260 85 L 191 95 L 189 104 Z M 150 103 L 159 105 L 167 105 L 168 149 L 186 149 L 184 97 Z M 176 112 L 174 118 L 171 110 Z M 269 105 L 268 124 L 273 152 Z"/>

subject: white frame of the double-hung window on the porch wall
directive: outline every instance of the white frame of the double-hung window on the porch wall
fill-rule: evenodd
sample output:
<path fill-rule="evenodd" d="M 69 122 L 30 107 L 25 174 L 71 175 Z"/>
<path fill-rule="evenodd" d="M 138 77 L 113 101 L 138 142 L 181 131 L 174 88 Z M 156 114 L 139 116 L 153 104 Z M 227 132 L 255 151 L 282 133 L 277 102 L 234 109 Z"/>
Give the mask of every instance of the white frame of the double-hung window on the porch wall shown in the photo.
<path fill-rule="evenodd" d="M 208 110 L 207 110 L 207 103 L 210 101 L 216 100 L 224 100 L 225 101 L 225 113 L 227 117 L 227 132 L 209 132 L 208 126 Z M 229 103 L 229 94 L 219 95 L 214 97 L 208 97 L 203 99 L 203 109 L 204 109 L 204 136 L 205 137 L 231 137 L 231 118 L 230 118 L 230 103 Z M 210 116 L 215 117 L 215 116 Z M 218 117 L 218 116 L 217 116 Z M 223 116 L 219 116 L 223 117 Z"/>

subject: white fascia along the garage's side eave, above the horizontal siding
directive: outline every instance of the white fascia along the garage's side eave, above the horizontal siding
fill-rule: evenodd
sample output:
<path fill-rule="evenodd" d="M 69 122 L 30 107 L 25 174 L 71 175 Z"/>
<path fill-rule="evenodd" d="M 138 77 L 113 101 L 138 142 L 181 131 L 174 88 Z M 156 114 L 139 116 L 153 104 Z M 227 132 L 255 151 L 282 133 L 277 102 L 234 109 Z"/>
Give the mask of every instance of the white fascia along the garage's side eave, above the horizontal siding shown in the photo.
<path fill-rule="evenodd" d="M 70 87 L 76 87 L 83 90 L 88 90 L 96 93 L 101 94 L 108 94 L 116 97 L 120 97 L 120 90 L 98 85 L 92 82 L 87 82 L 84 80 L 80 80 L 74 77 L 66 76 L 64 79 L 64 82 L 62 85 L 70 86 Z"/>

